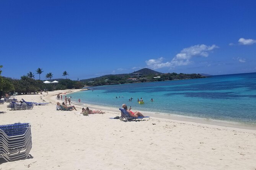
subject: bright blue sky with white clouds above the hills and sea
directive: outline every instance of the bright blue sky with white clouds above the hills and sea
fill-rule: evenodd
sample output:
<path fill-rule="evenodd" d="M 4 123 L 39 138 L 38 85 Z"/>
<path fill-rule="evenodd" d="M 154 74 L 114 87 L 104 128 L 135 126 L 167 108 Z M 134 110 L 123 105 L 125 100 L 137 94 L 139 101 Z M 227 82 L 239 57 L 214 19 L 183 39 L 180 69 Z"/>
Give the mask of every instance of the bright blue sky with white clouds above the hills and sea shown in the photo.
<path fill-rule="evenodd" d="M 2 76 L 256 72 L 255 0 L 0 1 Z"/>

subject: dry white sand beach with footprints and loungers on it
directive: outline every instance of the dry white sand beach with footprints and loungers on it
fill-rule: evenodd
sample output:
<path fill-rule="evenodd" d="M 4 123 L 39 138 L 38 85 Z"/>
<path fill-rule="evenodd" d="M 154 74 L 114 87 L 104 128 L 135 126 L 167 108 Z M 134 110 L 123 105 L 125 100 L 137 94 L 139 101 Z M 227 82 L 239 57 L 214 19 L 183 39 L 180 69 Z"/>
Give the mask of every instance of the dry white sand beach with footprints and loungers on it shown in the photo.
<path fill-rule="evenodd" d="M 157 117 L 109 119 L 120 115 L 118 108 L 79 114 L 87 105 L 76 105 L 78 111 L 56 111 L 56 95 L 67 91 L 17 96 L 51 102 L 32 110 L 11 111 L 8 103 L 0 104 L 0 125 L 31 123 L 33 142 L 27 159 L 1 158 L 0 170 L 256 169 L 256 130 Z"/>

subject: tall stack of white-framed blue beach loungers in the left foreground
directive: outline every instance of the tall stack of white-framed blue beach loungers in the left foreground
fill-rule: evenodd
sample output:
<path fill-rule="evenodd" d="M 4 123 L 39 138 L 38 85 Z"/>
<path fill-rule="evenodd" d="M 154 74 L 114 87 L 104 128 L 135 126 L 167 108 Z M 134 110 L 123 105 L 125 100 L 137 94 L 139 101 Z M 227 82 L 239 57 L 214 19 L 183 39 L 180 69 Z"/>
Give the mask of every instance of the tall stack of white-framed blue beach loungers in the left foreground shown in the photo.
<path fill-rule="evenodd" d="M 0 158 L 8 162 L 26 159 L 31 148 L 30 123 L 0 125 Z"/>

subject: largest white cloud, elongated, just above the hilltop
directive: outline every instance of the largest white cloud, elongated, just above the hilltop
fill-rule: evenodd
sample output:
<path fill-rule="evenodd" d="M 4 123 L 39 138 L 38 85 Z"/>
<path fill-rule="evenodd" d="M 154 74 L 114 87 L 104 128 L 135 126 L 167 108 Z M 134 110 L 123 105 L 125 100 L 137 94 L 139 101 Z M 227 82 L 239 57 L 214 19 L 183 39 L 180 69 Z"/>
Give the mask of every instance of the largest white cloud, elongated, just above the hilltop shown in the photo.
<path fill-rule="evenodd" d="M 213 49 L 218 48 L 216 45 L 207 46 L 204 44 L 201 45 L 194 45 L 188 48 L 184 48 L 181 50 L 180 53 L 178 53 L 171 62 L 163 63 L 164 58 L 158 58 L 158 59 L 149 59 L 146 61 L 146 64 L 148 67 L 153 69 L 160 69 L 163 67 L 175 67 L 175 66 L 186 66 L 188 64 L 191 64 L 192 61 L 190 59 L 194 56 L 202 56 L 207 57 L 209 55 L 209 52 Z"/>

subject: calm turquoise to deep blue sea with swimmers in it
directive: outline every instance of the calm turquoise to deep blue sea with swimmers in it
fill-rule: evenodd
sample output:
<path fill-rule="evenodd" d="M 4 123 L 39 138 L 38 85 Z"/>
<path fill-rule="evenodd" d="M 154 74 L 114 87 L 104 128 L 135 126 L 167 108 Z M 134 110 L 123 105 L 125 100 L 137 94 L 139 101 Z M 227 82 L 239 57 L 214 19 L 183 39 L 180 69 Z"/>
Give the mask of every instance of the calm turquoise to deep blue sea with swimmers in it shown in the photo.
<path fill-rule="evenodd" d="M 72 101 L 256 125 L 256 73 L 89 88 L 70 94 Z"/>

